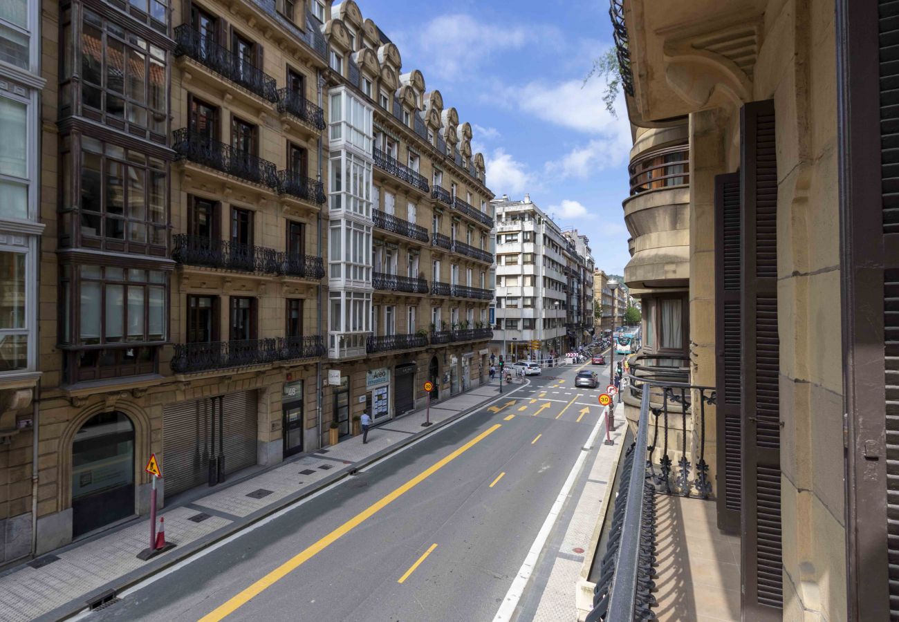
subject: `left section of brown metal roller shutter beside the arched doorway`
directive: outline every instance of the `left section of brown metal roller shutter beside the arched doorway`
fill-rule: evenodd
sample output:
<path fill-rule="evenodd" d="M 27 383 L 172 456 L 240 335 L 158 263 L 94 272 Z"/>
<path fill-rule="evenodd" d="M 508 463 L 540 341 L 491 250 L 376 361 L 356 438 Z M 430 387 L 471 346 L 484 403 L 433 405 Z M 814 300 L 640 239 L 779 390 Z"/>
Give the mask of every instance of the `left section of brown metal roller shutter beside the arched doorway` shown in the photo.
<path fill-rule="evenodd" d="M 208 399 L 170 404 L 163 409 L 162 469 L 166 495 L 207 482 L 211 414 Z"/>

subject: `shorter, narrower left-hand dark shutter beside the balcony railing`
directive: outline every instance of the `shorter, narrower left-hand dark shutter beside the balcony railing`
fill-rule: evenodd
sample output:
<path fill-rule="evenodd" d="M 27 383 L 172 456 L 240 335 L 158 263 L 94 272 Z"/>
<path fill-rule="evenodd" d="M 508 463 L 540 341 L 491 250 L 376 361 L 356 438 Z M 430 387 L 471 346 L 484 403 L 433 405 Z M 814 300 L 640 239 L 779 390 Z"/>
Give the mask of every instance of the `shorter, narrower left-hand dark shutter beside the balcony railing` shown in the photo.
<path fill-rule="evenodd" d="M 718 529 L 740 531 L 740 173 L 715 177 Z M 686 333 L 685 333 L 686 334 Z"/>

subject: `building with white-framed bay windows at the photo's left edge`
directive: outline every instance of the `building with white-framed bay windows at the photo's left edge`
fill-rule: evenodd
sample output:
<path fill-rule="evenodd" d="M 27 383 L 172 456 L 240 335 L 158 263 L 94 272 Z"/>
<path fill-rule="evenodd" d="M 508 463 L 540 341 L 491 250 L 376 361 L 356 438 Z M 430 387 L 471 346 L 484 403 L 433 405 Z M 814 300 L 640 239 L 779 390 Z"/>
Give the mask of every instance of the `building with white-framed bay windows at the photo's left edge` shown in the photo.
<path fill-rule="evenodd" d="M 46 62 L 48 58 L 44 58 Z M 31 553 L 40 380 L 40 5 L 0 11 L 0 564 Z"/>

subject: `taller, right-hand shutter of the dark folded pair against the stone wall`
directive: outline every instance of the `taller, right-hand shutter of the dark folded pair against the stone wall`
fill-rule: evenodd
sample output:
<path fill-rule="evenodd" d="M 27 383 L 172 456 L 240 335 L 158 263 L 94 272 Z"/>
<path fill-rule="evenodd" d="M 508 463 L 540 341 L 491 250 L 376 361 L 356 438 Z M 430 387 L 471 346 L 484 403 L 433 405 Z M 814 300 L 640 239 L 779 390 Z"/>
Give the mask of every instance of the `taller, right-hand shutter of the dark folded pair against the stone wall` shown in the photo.
<path fill-rule="evenodd" d="M 781 618 L 778 167 L 774 102 L 743 106 L 743 616 Z"/>

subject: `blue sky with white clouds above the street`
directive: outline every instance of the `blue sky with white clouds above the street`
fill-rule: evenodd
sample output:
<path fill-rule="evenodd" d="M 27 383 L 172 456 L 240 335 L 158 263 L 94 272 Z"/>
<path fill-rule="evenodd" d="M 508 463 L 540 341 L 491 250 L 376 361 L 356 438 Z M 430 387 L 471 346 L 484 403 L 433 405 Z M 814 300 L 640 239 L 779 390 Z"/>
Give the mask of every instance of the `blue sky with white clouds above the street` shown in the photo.
<path fill-rule="evenodd" d="M 630 130 L 601 101 L 602 80 L 583 78 L 611 46 L 603 0 L 357 0 L 393 40 L 403 73 L 472 124 L 487 185 L 530 199 L 560 227 L 590 236 L 598 267 L 628 262 L 621 200 L 628 192 Z"/>

